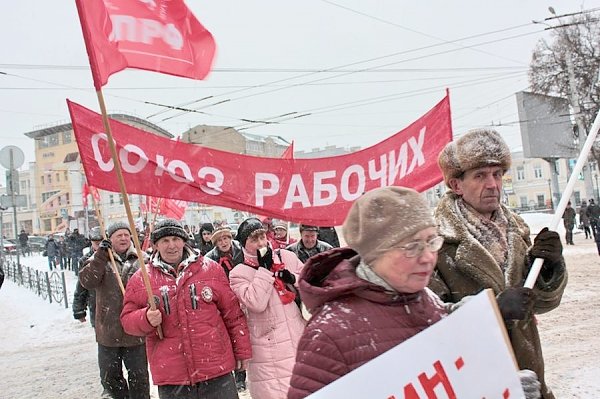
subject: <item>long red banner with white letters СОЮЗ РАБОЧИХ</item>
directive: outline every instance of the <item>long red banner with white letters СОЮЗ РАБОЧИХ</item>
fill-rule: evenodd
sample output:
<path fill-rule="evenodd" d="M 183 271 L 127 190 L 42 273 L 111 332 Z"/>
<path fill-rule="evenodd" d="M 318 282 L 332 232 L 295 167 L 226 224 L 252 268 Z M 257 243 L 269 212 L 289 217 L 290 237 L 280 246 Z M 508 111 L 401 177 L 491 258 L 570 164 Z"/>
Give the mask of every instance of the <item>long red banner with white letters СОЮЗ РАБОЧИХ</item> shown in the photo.
<path fill-rule="evenodd" d="M 119 191 L 102 118 L 67 101 L 87 180 Z M 446 96 L 392 137 L 352 154 L 259 158 L 152 135 L 111 120 L 127 191 L 220 205 L 283 220 L 338 226 L 352 202 L 377 187 L 426 190 L 442 180 L 437 157 L 452 139 Z"/>

